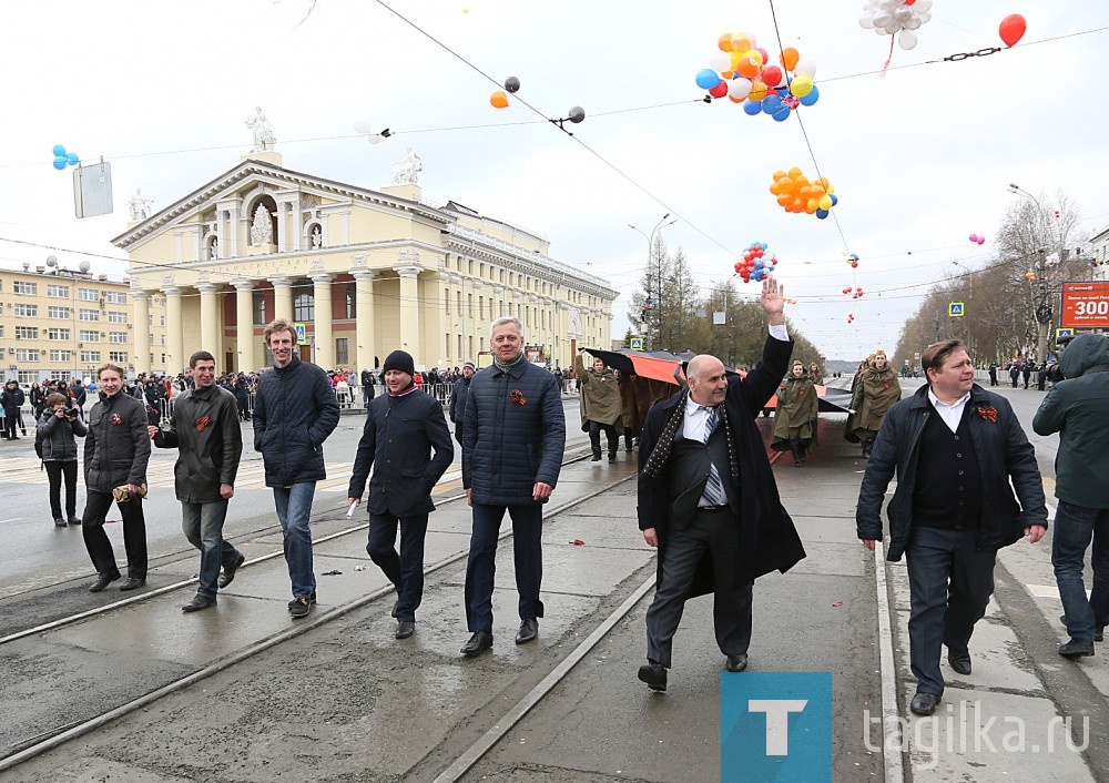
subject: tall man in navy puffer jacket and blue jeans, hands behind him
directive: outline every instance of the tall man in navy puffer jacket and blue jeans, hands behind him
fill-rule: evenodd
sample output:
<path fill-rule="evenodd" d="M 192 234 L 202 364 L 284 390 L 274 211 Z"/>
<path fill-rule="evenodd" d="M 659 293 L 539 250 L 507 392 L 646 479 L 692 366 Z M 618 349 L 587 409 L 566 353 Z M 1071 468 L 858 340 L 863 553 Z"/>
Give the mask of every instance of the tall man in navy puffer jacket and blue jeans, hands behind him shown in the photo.
<path fill-rule="evenodd" d="M 265 462 L 266 486 L 273 487 L 285 536 L 285 561 L 293 582 L 288 611 L 302 618 L 316 602 L 308 516 L 316 481 L 327 477 L 324 440 L 339 423 L 339 404 L 327 374 L 294 354 L 296 332 L 291 323 L 277 318 L 266 326 L 265 343 L 274 366 L 258 378 L 254 450 Z"/>

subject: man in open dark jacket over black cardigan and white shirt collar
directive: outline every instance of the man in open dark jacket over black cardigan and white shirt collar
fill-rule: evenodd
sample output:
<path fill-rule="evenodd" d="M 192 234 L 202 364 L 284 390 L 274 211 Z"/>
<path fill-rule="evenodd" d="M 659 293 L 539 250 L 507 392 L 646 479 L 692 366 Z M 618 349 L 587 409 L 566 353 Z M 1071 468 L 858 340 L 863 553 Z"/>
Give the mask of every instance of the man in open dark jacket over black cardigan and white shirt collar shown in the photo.
<path fill-rule="evenodd" d="M 873 551 L 896 470 L 886 558 L 906 556 L 909 659 L 917 679 L 909 709 L 930 715 L 944 693 L 942 647 L 952 669 L 969 675 L 970 634 L 994 593 L 997 550 L 1022 536 L 1040 540 L 1047 507 L 1028 437 L 1008 400 L 974 383 L 966 347 L 957 339 L 933 343 L 920 366 L 928 385 L 886 413 L 855 523 Z"/>

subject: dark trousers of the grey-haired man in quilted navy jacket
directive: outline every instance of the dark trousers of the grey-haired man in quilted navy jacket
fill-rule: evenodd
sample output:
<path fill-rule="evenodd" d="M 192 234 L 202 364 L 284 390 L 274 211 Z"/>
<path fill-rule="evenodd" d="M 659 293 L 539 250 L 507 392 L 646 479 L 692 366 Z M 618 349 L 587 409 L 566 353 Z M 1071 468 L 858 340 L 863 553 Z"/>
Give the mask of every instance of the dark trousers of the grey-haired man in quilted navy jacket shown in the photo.
<path fill-rule="evenodd" d="M 543 580 L 543 508 L 474 504 L 474 531 L 466 561 L 466 626 L 471 632 L 492 632 L 492 584 L 497 573 L 497 536 L 508 509 L 512 518 L 516 556 L 516 589 L 520 593 L 520 619 L 543 616 L 539 586 Z"/>

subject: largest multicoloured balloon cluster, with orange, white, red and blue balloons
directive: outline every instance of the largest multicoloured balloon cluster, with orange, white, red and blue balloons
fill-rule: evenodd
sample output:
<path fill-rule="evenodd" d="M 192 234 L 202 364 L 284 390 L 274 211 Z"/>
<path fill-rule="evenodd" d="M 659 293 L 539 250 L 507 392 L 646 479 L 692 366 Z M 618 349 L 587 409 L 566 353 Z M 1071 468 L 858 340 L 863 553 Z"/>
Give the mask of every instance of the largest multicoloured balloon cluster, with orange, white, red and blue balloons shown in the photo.
<path fill-rule="evenodd" d="M 716 47 L 720 52 L 709 58 L 709 68 L 696 74 L 696 85 L 713 98 L 746 101 L 743 111 L 749 115 L 770 114 L 777 122 L 820 100 L 821 91 L 813 83 L 816 63 L 802 60 L 793 47 L 782 50 L 779 64 L 770 61 L 770 53 L 747 32 L 725 32 Z"/>

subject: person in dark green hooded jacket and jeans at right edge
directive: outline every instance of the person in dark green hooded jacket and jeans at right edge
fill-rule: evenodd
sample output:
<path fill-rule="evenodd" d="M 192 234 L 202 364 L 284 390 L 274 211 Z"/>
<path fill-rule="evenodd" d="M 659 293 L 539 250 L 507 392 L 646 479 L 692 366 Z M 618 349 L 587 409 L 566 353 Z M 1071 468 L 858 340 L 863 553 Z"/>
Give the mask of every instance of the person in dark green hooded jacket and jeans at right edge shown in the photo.
<path fill-rule="evenodd" d="M 1064 658 L 1093 654 L 1109 624 L 1109 337 L 1081 334 L 1050 370 L 1052 386 L 1032 419 L 1038 435 L 1059 434 L 1055 496 L 1059 500 L 1051 565 L 1070 640 Z M 1093 545 L 1092 591 L 1082 573 Z"/>

